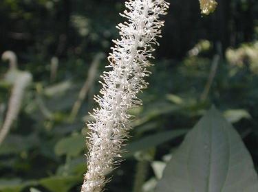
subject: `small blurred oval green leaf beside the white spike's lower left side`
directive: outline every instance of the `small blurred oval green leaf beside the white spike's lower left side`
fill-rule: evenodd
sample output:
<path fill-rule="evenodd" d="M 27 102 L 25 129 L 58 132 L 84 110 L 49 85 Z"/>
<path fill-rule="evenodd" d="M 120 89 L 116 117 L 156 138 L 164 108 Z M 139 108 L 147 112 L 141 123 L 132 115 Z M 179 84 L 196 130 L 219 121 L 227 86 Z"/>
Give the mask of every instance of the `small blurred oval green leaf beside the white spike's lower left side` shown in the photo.
<path fill-rule="evenodd" d="M 85 148 L 85 136 L 76 134 L 73 136 L 61 139 L 56 146 L 54 151 L 56 155 L 67 155 L 67 156 L 78 156 L 80 152 Z"/>

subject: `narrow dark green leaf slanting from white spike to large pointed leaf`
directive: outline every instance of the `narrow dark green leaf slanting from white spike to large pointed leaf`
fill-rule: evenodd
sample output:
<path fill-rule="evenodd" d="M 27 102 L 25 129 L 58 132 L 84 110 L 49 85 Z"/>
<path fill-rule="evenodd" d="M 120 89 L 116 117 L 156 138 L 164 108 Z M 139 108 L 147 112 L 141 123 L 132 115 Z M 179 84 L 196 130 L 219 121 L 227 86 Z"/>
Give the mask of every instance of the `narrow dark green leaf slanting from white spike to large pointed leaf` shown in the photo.
<path fill-rule="evenodd" d="M 144 151 L 151 147 L 156 147 L 164 142 L 170 141 L 172 139 L 177 138 L 178 136 L 182 136 L 187 132 L 187 130 L 171 130 L 166 132 L 160 132 L 156 134 L 152 134 L 150 136 L 145 136 L 143 139 L 138 141 L 134 141 L 133 143 L 129 143 L 125 148 L 129 153 L 125 156 L 131 156 L 135 152 Z"/>

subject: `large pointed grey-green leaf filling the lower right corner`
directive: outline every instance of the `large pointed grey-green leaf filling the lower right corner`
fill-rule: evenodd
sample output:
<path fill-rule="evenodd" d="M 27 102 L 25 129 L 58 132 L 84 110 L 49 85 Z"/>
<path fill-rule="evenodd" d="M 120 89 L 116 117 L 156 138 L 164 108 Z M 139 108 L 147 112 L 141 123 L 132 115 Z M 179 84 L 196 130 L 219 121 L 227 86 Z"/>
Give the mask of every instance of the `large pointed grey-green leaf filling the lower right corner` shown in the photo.
<path fill-rule="evenodd" d="M 156 192 L 257 192 L 252 158 L 239 134 L 215 109 L 186 135 Z"/>

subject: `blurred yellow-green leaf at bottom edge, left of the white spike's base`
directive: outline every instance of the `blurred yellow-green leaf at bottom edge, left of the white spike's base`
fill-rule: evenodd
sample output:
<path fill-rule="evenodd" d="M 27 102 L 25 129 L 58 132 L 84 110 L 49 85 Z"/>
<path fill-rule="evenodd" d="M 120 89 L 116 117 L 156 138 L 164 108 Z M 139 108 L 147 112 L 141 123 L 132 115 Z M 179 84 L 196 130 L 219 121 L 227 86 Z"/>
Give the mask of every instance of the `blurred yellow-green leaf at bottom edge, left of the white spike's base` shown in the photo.
<path fill-rule="evenodd" d="M 50 177 L 44 178 L 39 183 L 50 190 L 51 192 L 67 192 L 71 189 L 81 178 L 74 176 L 67 177 Z"/>

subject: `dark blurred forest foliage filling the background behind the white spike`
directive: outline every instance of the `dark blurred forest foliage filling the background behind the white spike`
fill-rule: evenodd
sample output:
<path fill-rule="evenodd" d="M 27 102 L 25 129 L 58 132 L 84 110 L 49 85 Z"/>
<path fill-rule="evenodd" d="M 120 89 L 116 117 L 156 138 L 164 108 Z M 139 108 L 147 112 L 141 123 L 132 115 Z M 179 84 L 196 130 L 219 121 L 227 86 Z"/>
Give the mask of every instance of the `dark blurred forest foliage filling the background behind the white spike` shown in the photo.
<path fill-rule="evenodd" d="M 184 134 L 212 104 L 241 134 L 258 169 L 258 1 L 217 2 L 210 16 L 200 14 L 197 0 L 170 2 L 150 86 L 140 95 L 144 106 L 131 110 L 133 137 L 109 191 L 153 191 Z M 0 191 L 79 191 L 85 121 L 107 64 L 99 56 L 118 38 L 123 9 L 118 0 L 0 1 L 0 53 L 14 51 L 19 69 L 33 75 L 0 146 Z M 6 71 L 1 62 L 0 125 L 12 93 Z"/>

